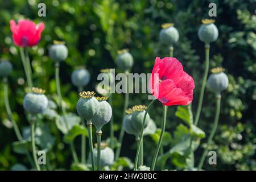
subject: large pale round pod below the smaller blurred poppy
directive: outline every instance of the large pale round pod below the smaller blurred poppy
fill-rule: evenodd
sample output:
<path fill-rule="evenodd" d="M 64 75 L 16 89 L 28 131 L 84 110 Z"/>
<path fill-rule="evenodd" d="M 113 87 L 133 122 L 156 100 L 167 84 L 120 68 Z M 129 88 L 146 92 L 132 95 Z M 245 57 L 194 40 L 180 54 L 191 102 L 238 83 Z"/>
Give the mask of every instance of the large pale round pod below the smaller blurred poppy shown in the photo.
<path fill-rule="evenodd" d="M 27 93 L 23 100 L 24 109 L 30 114 L 42 113 L 48 106 L 48 99 L 44 95 L 46 90 L 32 88 L 32 92 Z"/>

